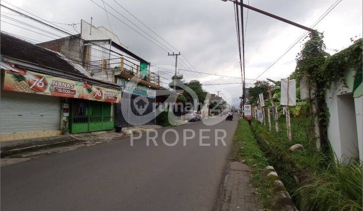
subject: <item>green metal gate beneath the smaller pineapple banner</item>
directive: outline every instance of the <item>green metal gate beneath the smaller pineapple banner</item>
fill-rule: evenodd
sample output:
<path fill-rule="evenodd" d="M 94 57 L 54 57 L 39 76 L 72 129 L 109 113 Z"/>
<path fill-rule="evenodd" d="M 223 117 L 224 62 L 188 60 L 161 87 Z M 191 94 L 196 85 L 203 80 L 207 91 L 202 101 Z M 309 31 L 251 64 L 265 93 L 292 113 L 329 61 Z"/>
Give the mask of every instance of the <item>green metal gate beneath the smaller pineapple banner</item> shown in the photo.
<path fill-rule="evenodd" d="M 71 133 L 112 130 L 114 117 L 111 103 L 73 99 Z"/>

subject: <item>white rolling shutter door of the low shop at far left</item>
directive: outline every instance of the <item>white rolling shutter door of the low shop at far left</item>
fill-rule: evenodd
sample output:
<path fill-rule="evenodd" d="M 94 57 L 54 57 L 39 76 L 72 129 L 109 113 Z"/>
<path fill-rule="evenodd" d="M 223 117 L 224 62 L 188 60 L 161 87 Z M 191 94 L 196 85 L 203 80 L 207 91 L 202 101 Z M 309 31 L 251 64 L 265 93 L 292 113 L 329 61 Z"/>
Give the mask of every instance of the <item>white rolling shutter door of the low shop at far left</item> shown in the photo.
<path fill-rule="evenodd" d="M 1 90 L 0 134 L 57 131 L 61 97 Z"/>

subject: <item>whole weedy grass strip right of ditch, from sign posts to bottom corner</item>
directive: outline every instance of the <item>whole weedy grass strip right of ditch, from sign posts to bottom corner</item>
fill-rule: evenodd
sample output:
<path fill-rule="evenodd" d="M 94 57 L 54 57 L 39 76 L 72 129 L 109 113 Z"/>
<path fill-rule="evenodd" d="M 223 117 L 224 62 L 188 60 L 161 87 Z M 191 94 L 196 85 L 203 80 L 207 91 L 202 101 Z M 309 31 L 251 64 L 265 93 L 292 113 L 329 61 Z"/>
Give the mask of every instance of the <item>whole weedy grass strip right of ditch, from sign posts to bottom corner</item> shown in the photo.
<path fill-rule="evenodd" d="M 303 113 L 306 105 L 301 105 Z M 274 122 L 272 123 L 274 125 Z M 362 166 L 343 165 L 334 156 L 316 149 L 311 136 L 310 120 L 300 114 L 291 118 L 292 140 L 286 135 L 285 118 L 279 122 L 280 131 L 269 131 L 253 121 L 252 128 L 260 149 L 280 176 L 296 205 L 302 210 L 361 210 Z M 302 144 L 303 149 L 290 152 L 289 147 Z M 302 183 L 294 179 L 297 176 Z"/>

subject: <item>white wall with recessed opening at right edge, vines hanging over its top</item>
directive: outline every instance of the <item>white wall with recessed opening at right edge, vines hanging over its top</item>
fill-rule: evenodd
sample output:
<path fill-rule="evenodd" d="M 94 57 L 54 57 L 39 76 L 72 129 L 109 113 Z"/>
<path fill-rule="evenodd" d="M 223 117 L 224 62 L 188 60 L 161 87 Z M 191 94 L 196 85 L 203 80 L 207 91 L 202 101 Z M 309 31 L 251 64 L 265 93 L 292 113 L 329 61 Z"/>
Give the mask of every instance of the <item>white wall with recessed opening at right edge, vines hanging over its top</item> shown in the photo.
<path fill-rule="evenodd" d="M 348 87 L 336 81 L 325 92 L 330 113 L 328 139 L 337 158 L 345 163 L 363 157 L 362 96 L 353 97 L 352 75 L 352 72 L 345 75 Z"/>

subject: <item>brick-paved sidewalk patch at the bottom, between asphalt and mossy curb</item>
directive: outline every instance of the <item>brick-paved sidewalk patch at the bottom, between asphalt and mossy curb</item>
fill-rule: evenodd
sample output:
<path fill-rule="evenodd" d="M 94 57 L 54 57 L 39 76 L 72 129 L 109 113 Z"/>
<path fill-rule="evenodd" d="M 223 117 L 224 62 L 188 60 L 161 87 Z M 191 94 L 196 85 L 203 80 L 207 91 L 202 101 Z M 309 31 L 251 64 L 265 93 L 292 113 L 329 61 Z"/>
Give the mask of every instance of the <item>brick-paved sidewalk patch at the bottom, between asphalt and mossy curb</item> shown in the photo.
<path fill-rule="evenodd" d="M 255 189 L 249 183 L 251 168 L 240 162 L 231 162 L 224 180 L 222 210 L 259 210 L 255 203 Z"/>

